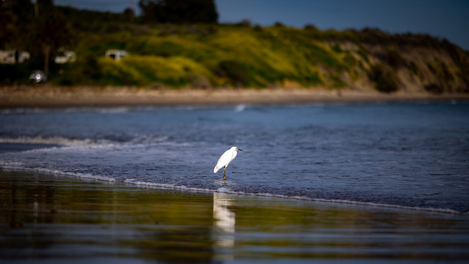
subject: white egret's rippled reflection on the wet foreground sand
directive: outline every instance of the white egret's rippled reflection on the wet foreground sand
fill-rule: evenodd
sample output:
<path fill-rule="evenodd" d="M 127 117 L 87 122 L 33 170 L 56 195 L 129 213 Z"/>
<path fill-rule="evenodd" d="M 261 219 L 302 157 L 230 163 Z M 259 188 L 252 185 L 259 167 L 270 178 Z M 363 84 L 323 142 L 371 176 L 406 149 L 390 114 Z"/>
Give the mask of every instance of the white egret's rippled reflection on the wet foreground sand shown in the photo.
<path fill-rule="evenodd" d="M 215 224 L 215 246 L 232 248 L 234 246 L 235 214 L 229 209 L 233 198 L 228 194 L 213 193 L 213 218 Z"/>

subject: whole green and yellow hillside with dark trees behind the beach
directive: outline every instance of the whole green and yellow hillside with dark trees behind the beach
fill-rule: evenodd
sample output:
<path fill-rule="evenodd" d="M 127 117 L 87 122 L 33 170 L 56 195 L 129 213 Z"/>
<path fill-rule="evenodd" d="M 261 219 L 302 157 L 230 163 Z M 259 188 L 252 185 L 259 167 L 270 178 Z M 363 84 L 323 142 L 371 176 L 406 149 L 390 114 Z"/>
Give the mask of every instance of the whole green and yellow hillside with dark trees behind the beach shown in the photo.
<path fill-rule="evenodd" d="M 148 8 L 155 2 L 140 1 L 141 7 L 145 4 Z M 151 7 L 155 12 L 165 10 Z M 468 52 L 425 34 L 390 34 L 369 28 L 322 31 L 314 25 L 299 29 L 282 23 L 263 27 L 248 20 L 218 24 L 210 5 L 211 19 L 206 21 L 184 20 L 182 15 L 173 16 L 177 20 L 158 20 L 149 12 L 134 18 L 129 10 L 114 14 L 51 7 L 50 12 L 58 14 L 55 17 L 66 21 L 61 22 L 64 32 L 57 36 L 59 41 L 51 36 L 50 44 L 44 46 L 40 40 L 28 41 L 29 35 L 11 26 L 8 21 L 18 19 L 29 21 L 21 24 L 24 32 L 38 26 L 26 11 L 12 15 L 12 8 L 5 4 L 1 8 L 2 15 L 9 14 L 2 16 L 2 23 L 10 27 L 0 33 L 0 48 L 28 50 L 32 59 L 0 64 L 0 82 L 7 85 L 27 83 L 28 73 L 49 61 L 44 59 L 45 47 L 55 47 L 54 55 L 62 46 L 75 51 L 77 59 L 48 66 L 49 82 L 55 85 L 469 92 Z M 125 50 L 129 56 L 115 61 L 105 56 L 109 49 Z"/>

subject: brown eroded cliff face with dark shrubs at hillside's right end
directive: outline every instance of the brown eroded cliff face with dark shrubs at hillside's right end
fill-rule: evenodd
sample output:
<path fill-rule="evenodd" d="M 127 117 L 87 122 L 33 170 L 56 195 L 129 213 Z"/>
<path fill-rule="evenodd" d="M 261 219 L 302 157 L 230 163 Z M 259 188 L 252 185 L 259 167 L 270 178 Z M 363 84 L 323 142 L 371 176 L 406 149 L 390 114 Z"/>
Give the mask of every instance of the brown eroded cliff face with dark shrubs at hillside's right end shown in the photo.
<path fill-rule="evenodd" d="M 469 56 L 461 48 L 415 45 L 357 45 L 329 42 L 352 70 L 341 79 L 355 90 L 401 93 L 469 93 Z M 325 73 L 327 75 L 327 73 Z"/>

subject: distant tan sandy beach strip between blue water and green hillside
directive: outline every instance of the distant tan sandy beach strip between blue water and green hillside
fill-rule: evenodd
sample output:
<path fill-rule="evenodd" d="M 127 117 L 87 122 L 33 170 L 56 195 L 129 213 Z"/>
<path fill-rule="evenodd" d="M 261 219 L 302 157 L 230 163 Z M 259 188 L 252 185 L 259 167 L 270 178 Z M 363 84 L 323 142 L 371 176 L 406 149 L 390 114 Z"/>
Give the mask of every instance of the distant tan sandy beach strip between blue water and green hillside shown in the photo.
<path fill-rule="evenodd" d="M 325 88 L 155 89 L 50 85 L 0 87 L 0 109 L 452 100 L 467 101 L 469 94 L 436 95 L 404 92 L 387 94 L 376 91 Z"/>

